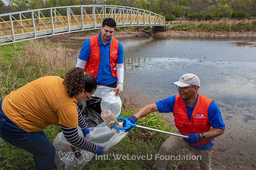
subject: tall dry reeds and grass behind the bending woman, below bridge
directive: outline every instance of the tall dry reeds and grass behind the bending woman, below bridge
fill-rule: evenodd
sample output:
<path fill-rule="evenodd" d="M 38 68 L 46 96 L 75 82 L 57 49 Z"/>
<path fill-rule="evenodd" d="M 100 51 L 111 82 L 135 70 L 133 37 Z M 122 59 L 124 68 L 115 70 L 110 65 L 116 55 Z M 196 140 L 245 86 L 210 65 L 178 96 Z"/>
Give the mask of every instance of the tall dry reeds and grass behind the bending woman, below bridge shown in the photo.
<path fill-rule="evenodd" d="M 50 41 L 0 46 L 0 98 L 40 77 L 63 76 L 72 67 L 66 49 Z"/>

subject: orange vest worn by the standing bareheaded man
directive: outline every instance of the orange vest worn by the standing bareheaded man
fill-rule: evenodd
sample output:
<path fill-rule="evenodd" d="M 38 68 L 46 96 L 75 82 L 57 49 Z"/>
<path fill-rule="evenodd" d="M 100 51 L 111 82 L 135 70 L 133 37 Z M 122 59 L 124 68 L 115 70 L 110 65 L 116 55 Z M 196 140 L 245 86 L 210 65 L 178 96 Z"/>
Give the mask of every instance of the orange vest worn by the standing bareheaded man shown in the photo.
<path fill-rule="evenodd" d="M 100 46 L 98 45 L 98 36 L 95 35 L 90 38 L 90 57 L 89 60 L 86 62 L 85 65 L 85 72 L 90 73 L 97 77 L 98 67 L 100 64 Z M 118 40 L 112 37 L 110 43 L 110 67 L 111 67 L 111 74 L 113 77 L 117 78 L 117 68 L 116 68 L 116 61 L 118 53 Z"/>

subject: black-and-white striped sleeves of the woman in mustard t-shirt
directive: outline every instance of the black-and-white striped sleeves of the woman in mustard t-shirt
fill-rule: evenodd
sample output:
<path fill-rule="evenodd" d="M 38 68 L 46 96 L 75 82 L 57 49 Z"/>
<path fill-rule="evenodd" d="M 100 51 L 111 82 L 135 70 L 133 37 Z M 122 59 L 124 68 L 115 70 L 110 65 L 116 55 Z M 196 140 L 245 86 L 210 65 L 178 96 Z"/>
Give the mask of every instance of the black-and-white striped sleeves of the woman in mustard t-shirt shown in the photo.
<path fill-rule="evenodd" d="M 80 128 L 86 128 L 87 123 L 85 122 L 84 118 L 82 117 L 82 114 L 80 112 L 80 109 L 78 106 L 76 106 L 76 109 L 78 111 L 78 125 Z M 63 134 L 68 142 L 70 142 L 73 146 L 79 148 L 79 149 L 84 149 L 86 151 L 90 152 L 96 152 L 97 150 L 97 145 L 94 143 L 91 143 L 87 140 L 85 140 L 83 137 L 81 137 L 78 134 L 78 128 L 68 128 L 63 125 L 61 125 Z"/>

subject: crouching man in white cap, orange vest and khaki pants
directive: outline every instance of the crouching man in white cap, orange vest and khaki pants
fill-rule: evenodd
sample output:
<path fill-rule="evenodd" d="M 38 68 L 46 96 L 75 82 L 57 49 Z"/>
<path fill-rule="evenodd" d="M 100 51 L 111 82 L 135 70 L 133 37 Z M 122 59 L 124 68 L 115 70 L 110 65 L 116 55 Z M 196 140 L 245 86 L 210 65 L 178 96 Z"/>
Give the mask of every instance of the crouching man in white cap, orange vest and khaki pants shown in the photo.
<path fill-rule="evenodd" d="M 170 136 L 156 155 L 153 170 L 165 170 L 171 154 L 183 148 L 193 151 L 198 156 L 201 155 L 198 157 L 200 168 L 211 170 L 210 159 L 214 145 L 212 141 L 214 137 L 222 135 L 225 131 L 219 108 L 213 100 L 197 93 L 200 80 L 196 75 L 184 74 L 180 80 L 172 84 L 176 85 L 179 95 L 149 104 L 132 115 L 129 120 L 135 123 L 151 112 L 172 112 L 175 126 L 179 130 L 177 134 L 189 136 L 188 138 Z"/>

